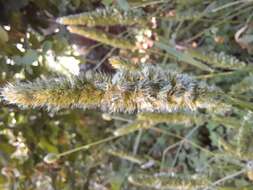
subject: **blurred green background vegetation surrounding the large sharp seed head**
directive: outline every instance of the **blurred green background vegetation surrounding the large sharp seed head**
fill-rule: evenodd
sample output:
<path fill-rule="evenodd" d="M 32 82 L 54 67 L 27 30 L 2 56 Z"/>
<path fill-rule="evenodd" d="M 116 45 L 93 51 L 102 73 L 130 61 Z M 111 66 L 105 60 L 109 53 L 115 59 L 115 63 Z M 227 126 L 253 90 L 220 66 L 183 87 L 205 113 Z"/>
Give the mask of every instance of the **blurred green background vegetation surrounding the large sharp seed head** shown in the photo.
<path fill-rule="evenodd" d="M 112 35 L 109 40 L 74 34 L 56 20 L 105 7 L 143 20 L 89 26 Z M 1 101 L 0 188 L 253 189 L 252 16 L 251 0 L 0 0 L 1 87 L 89 70 L 113 74 L 117 64 L 109 58 L 120 56 L 132 62 L 126 69 L 163 65 L 206 81 L 231 106 L 198 110 L 196 118 L 204 119 L 187 126 L 155 115 L 158 122 L 148 129 L 108 139 L 136 115 Z M 94 146 L 52 158 L 82 145 Z"/>

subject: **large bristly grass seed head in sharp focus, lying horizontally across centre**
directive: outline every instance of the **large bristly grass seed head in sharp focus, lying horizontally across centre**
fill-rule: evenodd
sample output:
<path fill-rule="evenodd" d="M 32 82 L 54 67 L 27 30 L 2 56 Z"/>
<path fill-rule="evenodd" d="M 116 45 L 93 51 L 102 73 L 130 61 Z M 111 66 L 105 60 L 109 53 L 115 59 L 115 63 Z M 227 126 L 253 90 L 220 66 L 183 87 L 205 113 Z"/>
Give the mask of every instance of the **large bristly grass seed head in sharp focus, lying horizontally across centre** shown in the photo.
<path fill-rule="evenodd" d="M 170 113 L 222 107 L 216 92 L 188 75 L 146 64 L 136 71 L 118 70 L 113 76 L 86 73 L 74 79 L 8 84 L 2 89 L 2 96 L 6 102 L 23 107 Z"/>

